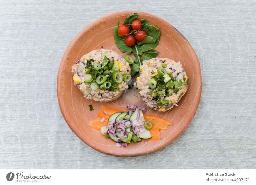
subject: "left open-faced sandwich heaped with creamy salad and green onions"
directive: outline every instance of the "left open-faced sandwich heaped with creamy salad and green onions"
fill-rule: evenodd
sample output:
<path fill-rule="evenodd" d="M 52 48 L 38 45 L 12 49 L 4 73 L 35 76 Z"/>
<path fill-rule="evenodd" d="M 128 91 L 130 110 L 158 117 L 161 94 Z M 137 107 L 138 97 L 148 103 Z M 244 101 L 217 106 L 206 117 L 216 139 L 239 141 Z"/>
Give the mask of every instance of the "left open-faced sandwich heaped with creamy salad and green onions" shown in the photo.
<path fill-rule="evenodd" d="M 113 50 L 93 50 L 72 66 L 73 80 L 85 98 L 100 102 L 117 99 L 128 88 L 131 69 Z"/>

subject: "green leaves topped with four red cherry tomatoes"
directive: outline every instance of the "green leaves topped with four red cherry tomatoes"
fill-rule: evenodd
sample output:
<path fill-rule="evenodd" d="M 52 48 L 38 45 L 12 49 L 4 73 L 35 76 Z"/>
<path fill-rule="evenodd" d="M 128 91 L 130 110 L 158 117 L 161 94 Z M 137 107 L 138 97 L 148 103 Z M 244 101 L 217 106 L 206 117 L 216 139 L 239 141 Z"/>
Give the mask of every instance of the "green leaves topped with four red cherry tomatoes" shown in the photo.
<path fill-rule="evenodd" d="M 133 53 L 136 60 L 127 55 L 125 60 L 132 64 L 132 76 L 135 76 L 142 65 L 143 60 L 155 58 L 158 54 L 154 48 L 159 44 L 159 29 L 150 25 L 146 19 L 138 18 L 137 13 L 126 17 L 123 25 L 114 27 L 114 39 L 116 46 L 122 52 Z"/>

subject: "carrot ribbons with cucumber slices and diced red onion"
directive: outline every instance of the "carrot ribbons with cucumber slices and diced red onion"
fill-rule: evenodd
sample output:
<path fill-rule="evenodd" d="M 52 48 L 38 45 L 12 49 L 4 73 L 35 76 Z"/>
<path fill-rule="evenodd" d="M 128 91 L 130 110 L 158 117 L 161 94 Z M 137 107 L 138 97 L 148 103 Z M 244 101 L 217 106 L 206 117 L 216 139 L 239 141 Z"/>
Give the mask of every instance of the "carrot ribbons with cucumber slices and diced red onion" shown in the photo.
<path fill-rule="evenodd" d="M 122 146 L 120 143 L 124 143 L 125 147 L 127 143 L 140 142 L 142 139 L 160 139 L 159 130 L 166 130 L 172 123 L 160 117 L 143 115 L 145 109 L 142 109 L 120 112 L 104 107 L 97 114 L 101 119 L 90 120 L 89 126 L 99 129 L 106 138 L 115 141 L 118 147 Z"/>

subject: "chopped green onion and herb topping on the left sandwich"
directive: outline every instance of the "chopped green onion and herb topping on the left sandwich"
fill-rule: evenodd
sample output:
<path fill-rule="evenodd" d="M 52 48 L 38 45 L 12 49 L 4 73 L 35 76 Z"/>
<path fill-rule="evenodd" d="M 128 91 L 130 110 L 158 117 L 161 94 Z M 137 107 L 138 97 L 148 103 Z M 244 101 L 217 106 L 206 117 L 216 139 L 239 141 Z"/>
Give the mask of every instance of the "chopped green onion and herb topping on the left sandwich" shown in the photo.
<path fill-rule="evenodd" d="M 90 89 L 95 91 L 97 89 L 108 89 L 115 91 L 119 89 L 119 84 L 131 80 L 131 75 L 120 73 L 120 64 L 114 59 L 110 60 L 104 57 L 102 63 L 95 62 L 93 58 L 86 59 L 84 83 L 90 85 Z"/>

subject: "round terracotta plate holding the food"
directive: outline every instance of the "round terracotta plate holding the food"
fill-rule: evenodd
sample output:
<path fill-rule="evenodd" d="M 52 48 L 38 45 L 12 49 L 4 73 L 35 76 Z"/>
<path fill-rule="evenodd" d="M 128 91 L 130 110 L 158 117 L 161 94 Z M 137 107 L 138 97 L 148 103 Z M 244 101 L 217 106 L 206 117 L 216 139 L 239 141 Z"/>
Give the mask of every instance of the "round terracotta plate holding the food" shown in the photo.
<path fill-rule="evenodd" d="M 115 142 L 105 138 L 99 130 L 88 126 L 90 119 L 96 119 L 96 113 L 102 106 L 113 107 L 127 111 L 126 105 L 144 105 L 139 90 L 129 89 L 113 102 L 100 103 L 83 97 L 72 80 L 71 66 L 84 54 L 95 49 L 112 49 L 125 56 L 114 42 L 113 27 L 116 22 L 124 22 L 127 15 L 133 12 L 117 12 L 104 16 L 86 26 L 68 45 L 63 58 L 57 79 L 57 95 L 60 110 L 71 130 L 87 145 L 102 153 L 116 156 L 138 156 L 155 152 L 172 143 L 187 128 L 198 107 L 201 96 L 201 71 L 199 60 L 188 40 L 172 25 L 154 15 L 137 12 L 139 18 L 145 18 L 151 25 L 161 31 L 160 43 L 156 47 L 157 57 L 166 57 L 180 61 L 189 78 L 188 91 L 178 103 L 179 107 L 169 112 L 150 111 L 147 114 L 156 115 L 170 120 L 172 125 L 168 130 L 161 131 L 161 139 L 156 141 L 130 143 L 127 147 L 118 148 Z M 88 105 L 95 109 L 90 111 Z"/>

